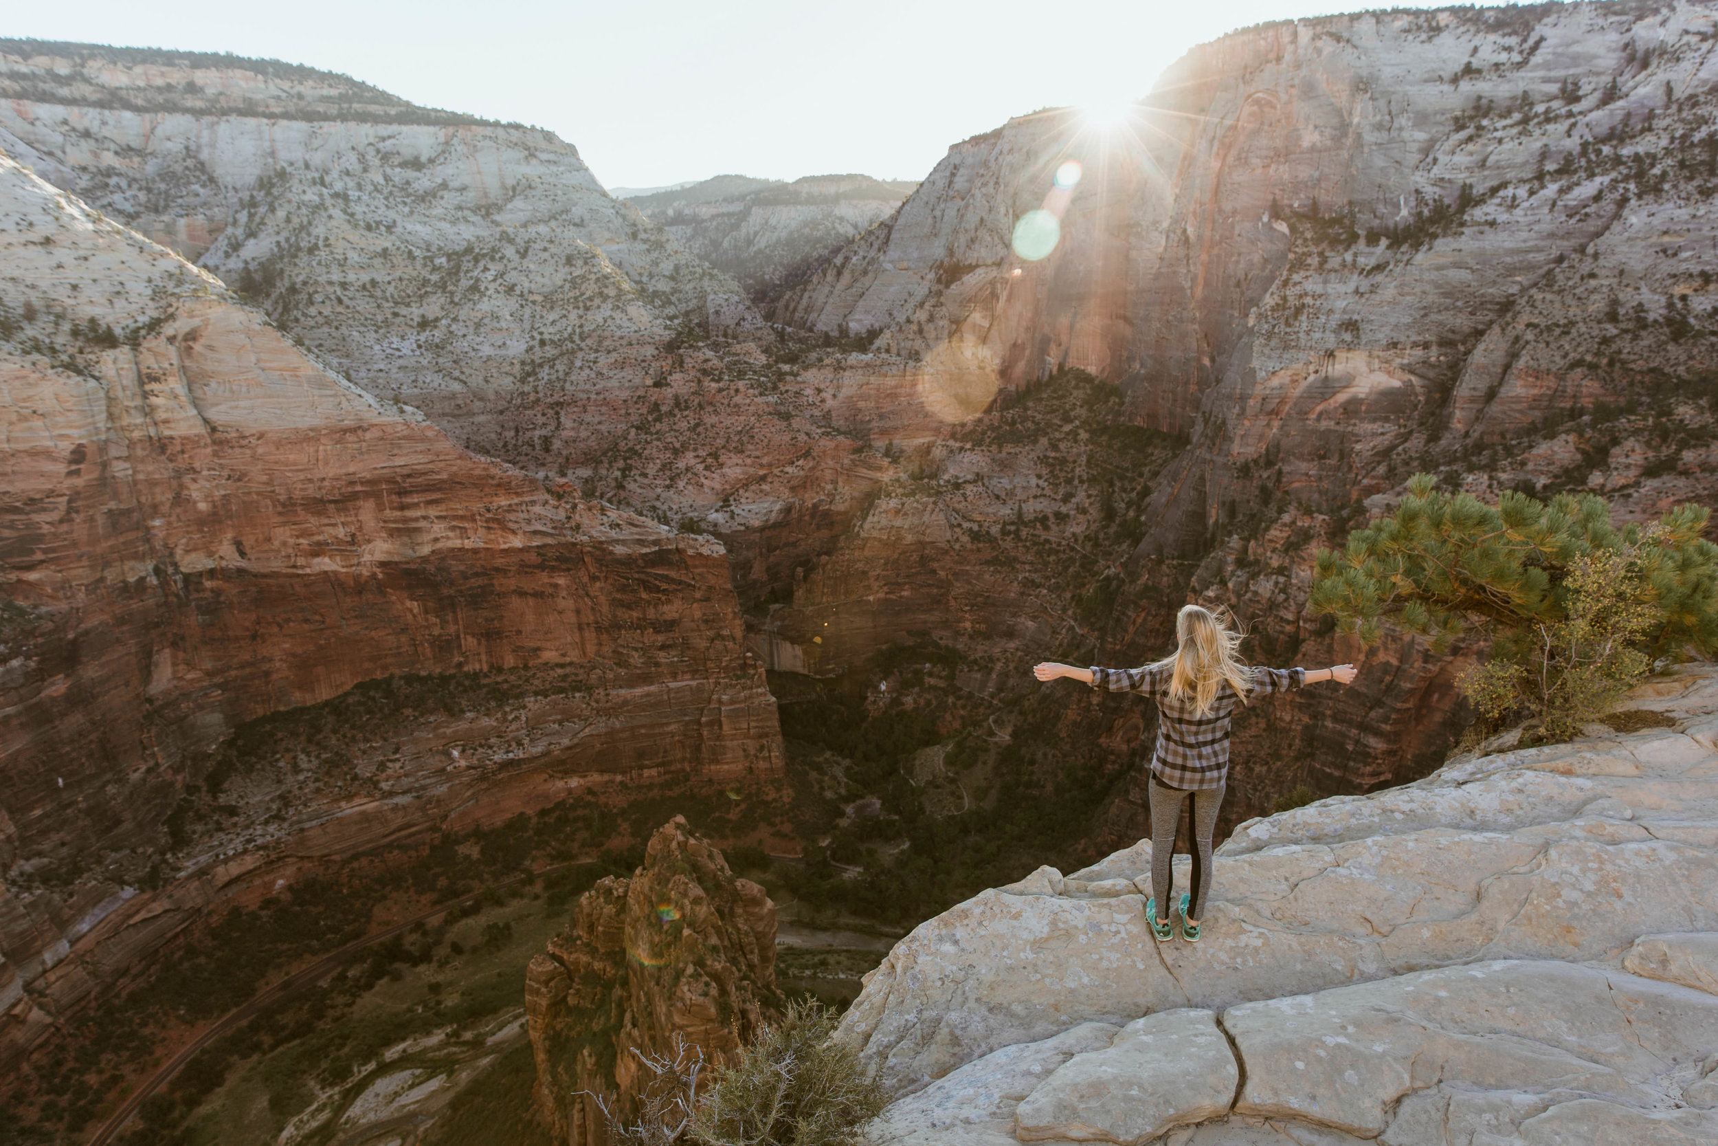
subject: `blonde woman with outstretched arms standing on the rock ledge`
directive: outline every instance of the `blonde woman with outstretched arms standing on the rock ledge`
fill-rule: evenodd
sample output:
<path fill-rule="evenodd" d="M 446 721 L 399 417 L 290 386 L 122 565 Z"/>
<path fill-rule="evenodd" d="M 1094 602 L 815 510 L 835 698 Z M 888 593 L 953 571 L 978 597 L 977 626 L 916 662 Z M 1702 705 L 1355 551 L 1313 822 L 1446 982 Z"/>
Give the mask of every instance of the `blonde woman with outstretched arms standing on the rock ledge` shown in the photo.
<path fill-rule="evenodd" d="M 1182 938 L 1199 942 L 1211 871 L 1211 832 L 1228 783 L 1228 720 L 1235 701 L 1252 692 L 1287 692 L 1304 684 L 1354 680 L 1354 665 L 1335 668 L 1249 668 L 1235 656 L 1242 634 L 1223 610 L 1187 605 L 1175 617 L 1173 656 L 1144 668 L 1075 668 L 1045 661 L 1039 680 L 1069 677 L 1110 692 L 1139 692 L 1158 703 L 1158 742 L 1151 756 L 1151 899 L 1146 921 L 1161 943 L 1170 938 L 1168 902 L 1175 826 L 1192 797 L 1192 893 L 1180 899 Z M 1191 902 L 1189 902 L 1191 900 Z M 1160 907 L 1161 905 L 1161 907 Z"/>

